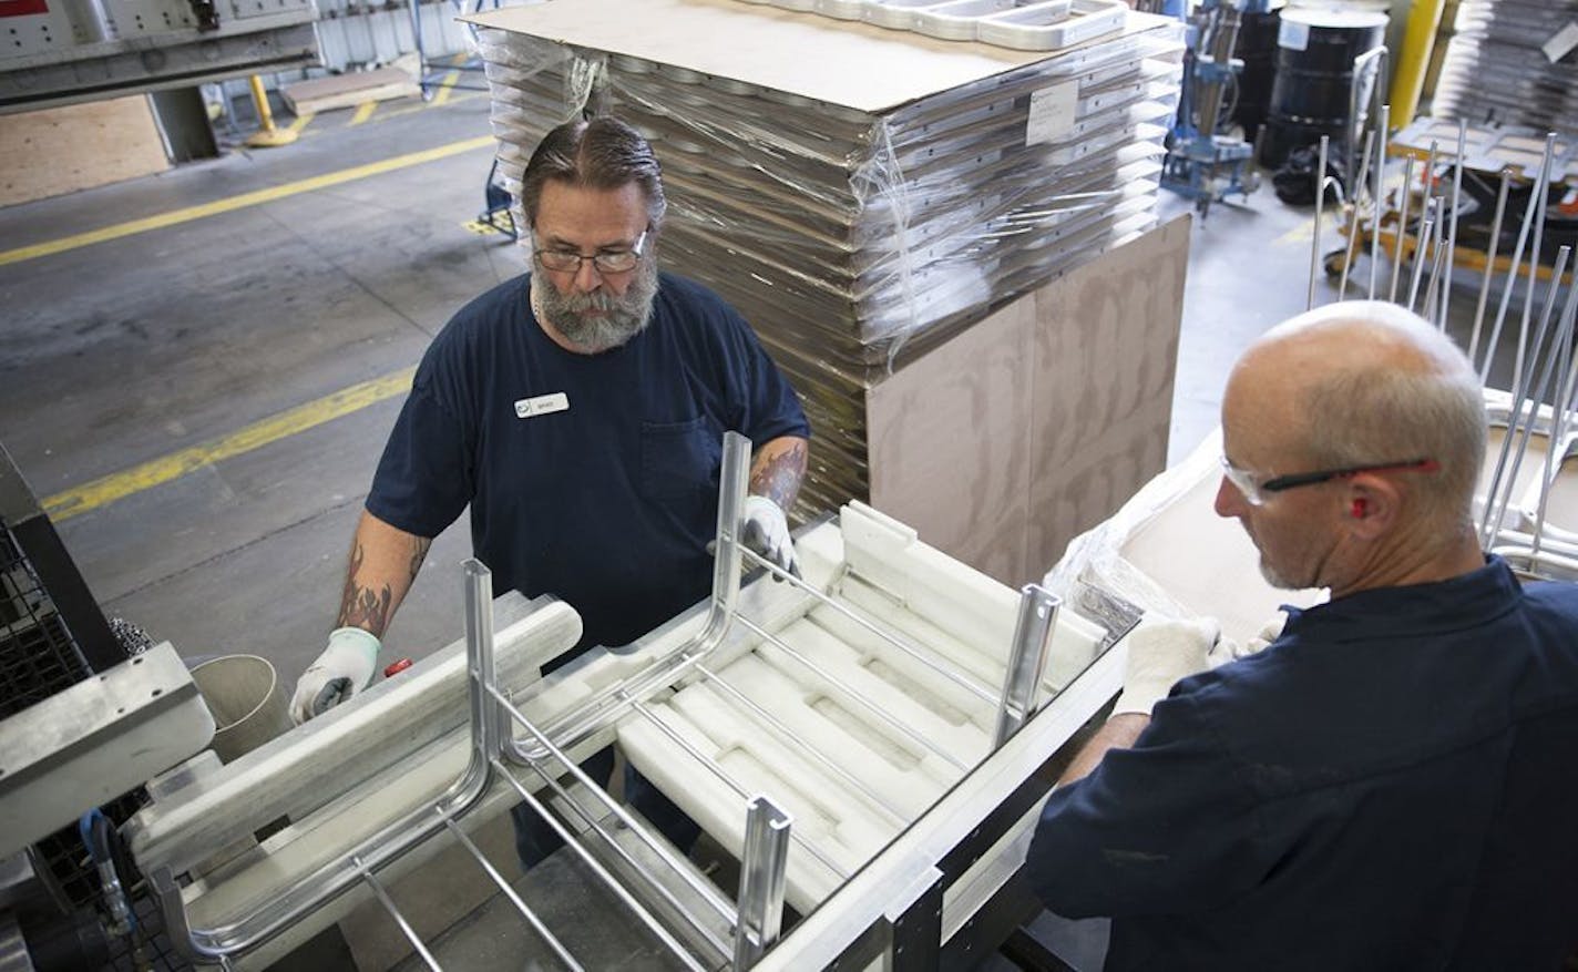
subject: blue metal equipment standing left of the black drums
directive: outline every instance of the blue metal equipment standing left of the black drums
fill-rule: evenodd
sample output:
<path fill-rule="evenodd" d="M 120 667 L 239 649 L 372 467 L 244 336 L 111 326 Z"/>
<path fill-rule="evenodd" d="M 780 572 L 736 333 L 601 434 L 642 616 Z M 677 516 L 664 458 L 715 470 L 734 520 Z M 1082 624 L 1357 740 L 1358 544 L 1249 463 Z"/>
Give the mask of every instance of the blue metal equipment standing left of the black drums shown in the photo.
<path fill-rule="evenodd" d="M 1243 139 L 1217 134 L 1223 96 L 1243 62 L 1232 57 L 1245 13 L 1266 13 L 1270 0 L 1201 0 L 1188 21 L 1184 52 L 1184 84 L 1179 114 L 1168 133 L 1168 158 L 1161 185 L 1195 200 L 1201 218 L 1210 204 L 1231 194 L 1248 197 L 1259 188 L 1255 147 Z"/>

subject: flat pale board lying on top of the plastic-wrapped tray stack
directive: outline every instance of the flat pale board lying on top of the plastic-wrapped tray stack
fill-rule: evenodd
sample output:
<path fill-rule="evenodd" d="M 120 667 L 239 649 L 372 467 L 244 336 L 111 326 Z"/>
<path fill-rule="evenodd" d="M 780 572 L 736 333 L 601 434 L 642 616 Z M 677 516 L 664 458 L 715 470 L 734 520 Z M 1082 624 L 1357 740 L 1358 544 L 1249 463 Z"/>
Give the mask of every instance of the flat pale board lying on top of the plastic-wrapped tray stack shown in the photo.
<path fill-rule="evenodd" d="M 742 0 L 554 0 L 466 19 L 873 114 L 1051 57 Z"/>

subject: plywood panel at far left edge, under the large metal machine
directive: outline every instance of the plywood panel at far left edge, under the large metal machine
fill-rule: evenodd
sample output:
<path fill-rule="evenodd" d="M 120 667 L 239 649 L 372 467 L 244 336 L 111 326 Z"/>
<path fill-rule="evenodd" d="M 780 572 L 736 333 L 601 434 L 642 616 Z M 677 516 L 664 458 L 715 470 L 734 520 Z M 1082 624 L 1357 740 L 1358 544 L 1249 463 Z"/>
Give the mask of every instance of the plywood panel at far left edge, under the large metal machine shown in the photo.
<path fill-rule="evenodd" d="M 170 167 L 144 95 L 0 115 L 0 205 Z"/>

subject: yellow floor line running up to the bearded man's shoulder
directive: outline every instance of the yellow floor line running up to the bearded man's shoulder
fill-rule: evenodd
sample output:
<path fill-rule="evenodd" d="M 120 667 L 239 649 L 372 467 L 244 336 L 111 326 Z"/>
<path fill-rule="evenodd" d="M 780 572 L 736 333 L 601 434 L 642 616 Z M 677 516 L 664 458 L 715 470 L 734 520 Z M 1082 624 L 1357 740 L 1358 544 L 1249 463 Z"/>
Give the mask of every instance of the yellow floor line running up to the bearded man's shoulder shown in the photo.
<path fill-rule="evenodd" d="M 62 521 L 98 510 L 134 492 L 178 480 L 205 465 L 249 453 L 270 442 L 278 442 L 287 436 L 305 432 L 312 426 L 320 426 L 331 418 L 350 415 L 387 398 L 404 394 L 410 390 L 413 374 L 417 374 L 415 368 L 406 368 L 369 382 L 361 382 L 360 385 L 341 388 L 317 401 L 254 421 L 229 436 L 210 439 L 191 448 L 183 448 L 178 453 L 150 459 L 142 465 L 134 465 L 133 469 L 101 477 L 84 486 L 57 492 L 44 500 L 44 511 L 55 521 Z"/>

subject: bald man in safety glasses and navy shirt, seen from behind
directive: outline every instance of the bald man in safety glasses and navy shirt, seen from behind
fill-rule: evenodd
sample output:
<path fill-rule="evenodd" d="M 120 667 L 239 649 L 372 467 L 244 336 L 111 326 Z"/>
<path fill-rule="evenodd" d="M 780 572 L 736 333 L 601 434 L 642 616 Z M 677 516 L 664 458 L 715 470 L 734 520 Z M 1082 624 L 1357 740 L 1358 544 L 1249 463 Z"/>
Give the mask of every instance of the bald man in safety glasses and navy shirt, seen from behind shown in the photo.
<path fill-rule="evenodd" d="M 1117 712 L 1041 813 L 1038 893 L 1112 917 L 1108 969 L 1557 969 L 1578 585 L 1479 549 L 1468 360 L 1393 305 L 1321 308 L 1240 358 L 1221 426 L 1217 513 L 1272 584 L 1332 598 L 1215 669 L 1209 623 L 1130 636 Z"/>

